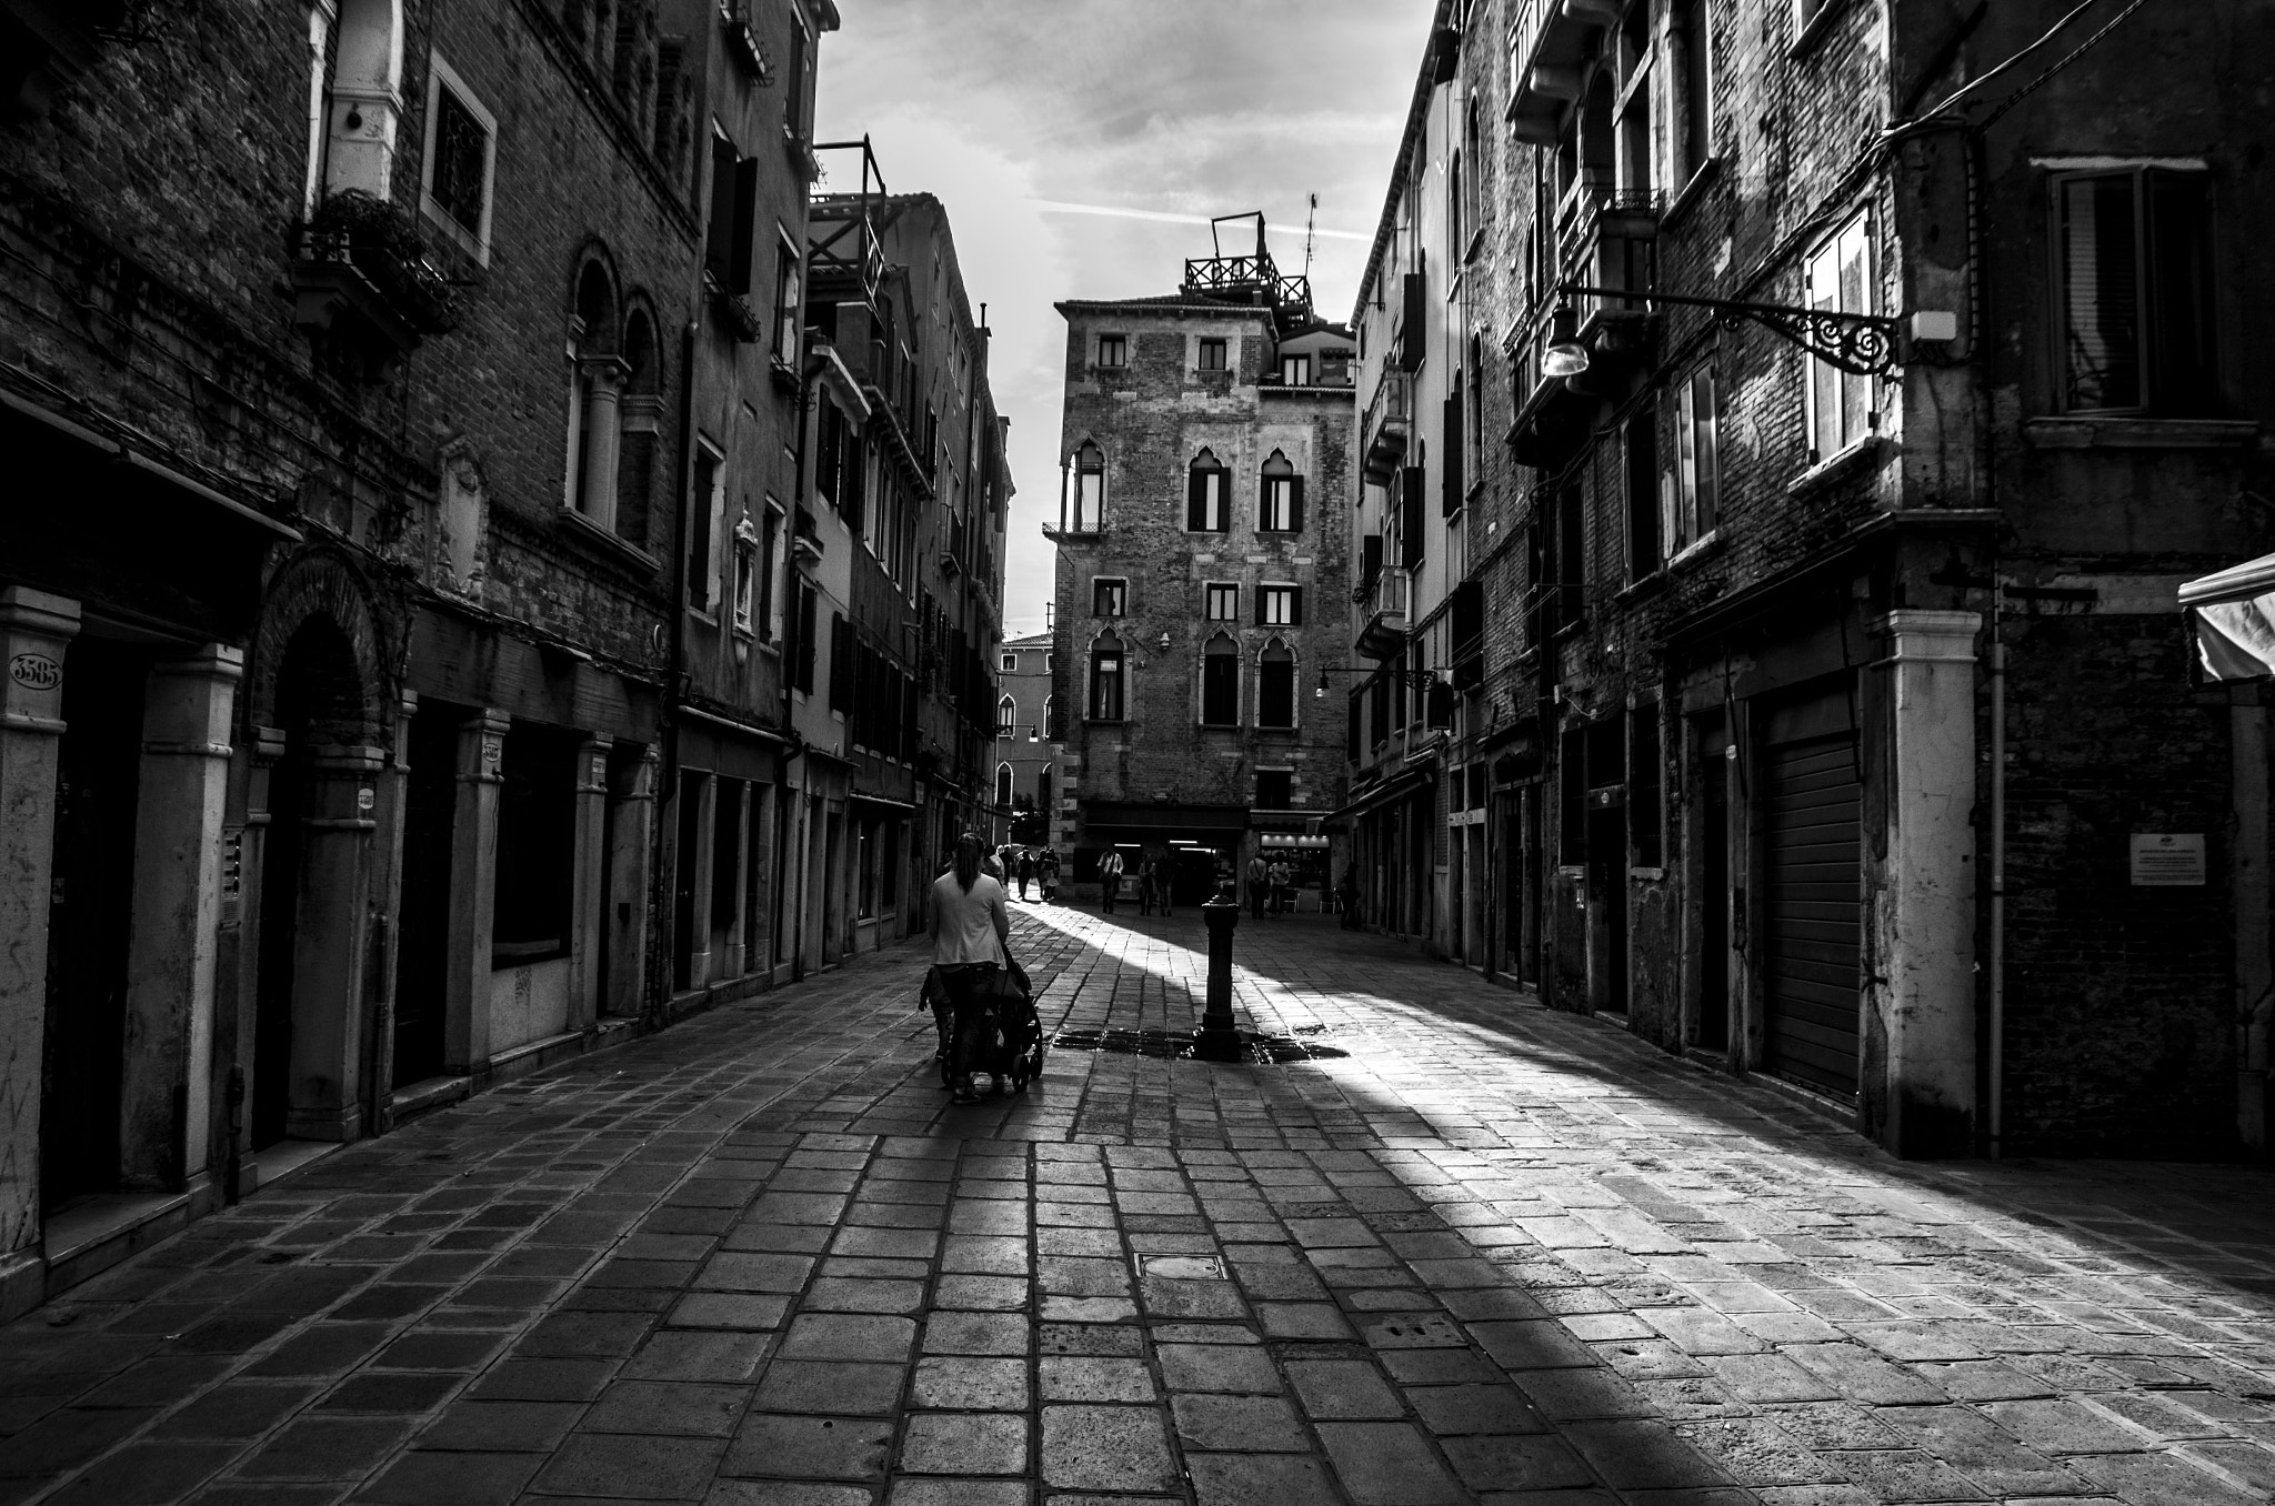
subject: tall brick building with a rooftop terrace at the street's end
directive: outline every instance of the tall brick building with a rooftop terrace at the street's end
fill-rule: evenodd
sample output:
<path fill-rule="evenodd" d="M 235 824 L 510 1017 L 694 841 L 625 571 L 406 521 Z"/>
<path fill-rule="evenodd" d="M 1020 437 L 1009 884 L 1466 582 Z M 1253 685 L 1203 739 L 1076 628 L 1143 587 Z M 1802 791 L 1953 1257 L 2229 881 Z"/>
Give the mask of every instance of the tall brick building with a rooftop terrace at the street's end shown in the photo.
<path fill-rule="evenodd" d="M 1074 883 L 1108 849 L 1174 864 L 1308 853 L 1342 798 L 1351 473 L 1347 330 L 1256 248 L 1185 262 L 1176 293 L 1067 300 L 1060 425 L 1058 846 Z"/>

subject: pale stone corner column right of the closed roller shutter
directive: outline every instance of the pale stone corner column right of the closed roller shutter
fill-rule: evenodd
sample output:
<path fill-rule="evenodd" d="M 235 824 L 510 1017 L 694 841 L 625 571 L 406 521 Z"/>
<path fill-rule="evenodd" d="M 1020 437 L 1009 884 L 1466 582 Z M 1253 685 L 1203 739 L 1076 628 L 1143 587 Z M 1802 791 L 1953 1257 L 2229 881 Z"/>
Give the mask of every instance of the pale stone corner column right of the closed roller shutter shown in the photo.
<path fill-rule="evenodd" d="M 1888 878 L 1879 899 L 1888 1035 L 1884 1144 L 1975 1144 L 1975 635 L 1979 612 L 1891 612 Z M 1870 1092 L 1870 1085 L 1868 1085 Z"/>

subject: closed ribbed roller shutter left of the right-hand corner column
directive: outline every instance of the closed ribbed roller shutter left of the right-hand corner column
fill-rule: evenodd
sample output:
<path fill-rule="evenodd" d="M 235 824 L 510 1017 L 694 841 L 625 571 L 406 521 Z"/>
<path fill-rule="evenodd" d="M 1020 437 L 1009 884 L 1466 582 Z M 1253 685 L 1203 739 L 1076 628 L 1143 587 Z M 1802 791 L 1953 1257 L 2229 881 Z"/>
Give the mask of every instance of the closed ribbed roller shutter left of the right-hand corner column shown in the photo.
<path fill-rule="evenodd" d="M 1770 744 L 1763 935 L 1770 1071 L 1856 1092 L 1856 733 Z"/>

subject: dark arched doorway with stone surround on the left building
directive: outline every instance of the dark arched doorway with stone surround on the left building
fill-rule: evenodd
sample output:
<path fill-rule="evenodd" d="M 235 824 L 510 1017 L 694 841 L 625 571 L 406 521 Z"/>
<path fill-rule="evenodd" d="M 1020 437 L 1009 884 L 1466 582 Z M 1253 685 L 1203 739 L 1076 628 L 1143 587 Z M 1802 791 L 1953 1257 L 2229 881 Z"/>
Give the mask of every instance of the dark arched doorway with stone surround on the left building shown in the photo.
<path fill-rule="evenodd" d="M 328 582 L 344 585 L 341 580 Z M 314 607 L 257 687 L 259 951 L 246 1128 L 284 1137 L 362 1133 L 373 833 L 384 751 L 373 714 L 369 619 Z M 266 646 L 266 644 L 264 644 Z"/>

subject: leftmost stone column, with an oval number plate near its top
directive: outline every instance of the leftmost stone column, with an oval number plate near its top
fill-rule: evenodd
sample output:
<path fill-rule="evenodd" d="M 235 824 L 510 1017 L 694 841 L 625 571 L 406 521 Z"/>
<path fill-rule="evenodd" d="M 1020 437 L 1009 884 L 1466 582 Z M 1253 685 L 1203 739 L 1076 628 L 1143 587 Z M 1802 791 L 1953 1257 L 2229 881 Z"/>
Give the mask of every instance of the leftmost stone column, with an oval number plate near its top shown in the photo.
<path fill-rule="evenodd" d="M 48 899 L 55 880 L 55 771 L 64 733 L 64 651 L 80 603 L 0 587 L 0 1290 L 20 1310 L 39 1279 L 39 1094 L 48 1031 Z M 32 1301 L 39 1294 L 32 1292 Z M 30 1306 L 30 1304 L 23 1304 Z"/>

